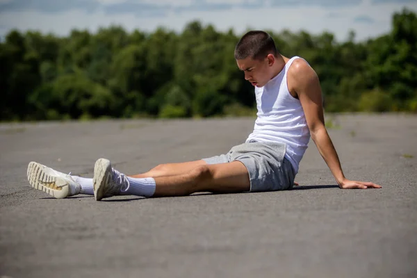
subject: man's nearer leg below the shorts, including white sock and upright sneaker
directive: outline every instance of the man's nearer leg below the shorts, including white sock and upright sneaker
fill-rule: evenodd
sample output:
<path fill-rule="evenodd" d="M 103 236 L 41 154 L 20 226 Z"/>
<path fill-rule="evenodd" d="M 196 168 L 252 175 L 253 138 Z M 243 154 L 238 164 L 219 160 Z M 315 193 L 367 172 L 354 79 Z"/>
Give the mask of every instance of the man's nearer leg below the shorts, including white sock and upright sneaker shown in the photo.
<path fill-rule="evenodd" d="M 199 165 L 186 173 L 155 178 L 126 177 L 101 158 L 95 164 L 94 190 L 97 201 L 111 195 L 145 197 L 185 196 L 196 192 L 239 193 L 250 190 L 249 173 L 234 161 Z"/>

